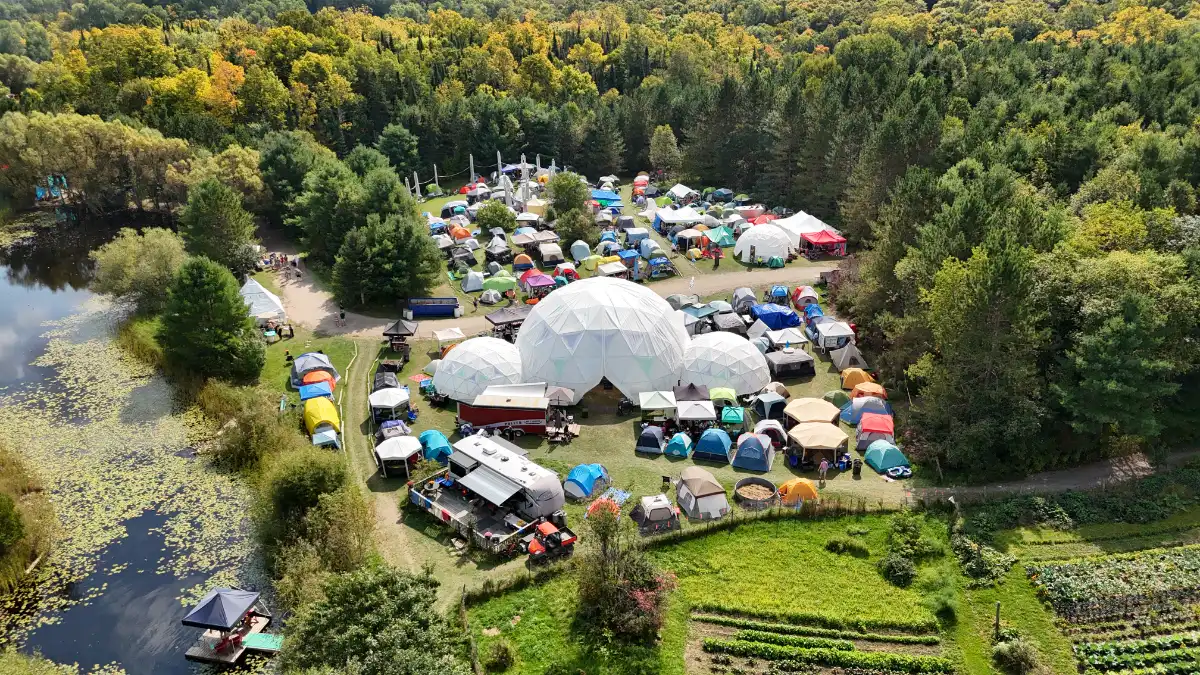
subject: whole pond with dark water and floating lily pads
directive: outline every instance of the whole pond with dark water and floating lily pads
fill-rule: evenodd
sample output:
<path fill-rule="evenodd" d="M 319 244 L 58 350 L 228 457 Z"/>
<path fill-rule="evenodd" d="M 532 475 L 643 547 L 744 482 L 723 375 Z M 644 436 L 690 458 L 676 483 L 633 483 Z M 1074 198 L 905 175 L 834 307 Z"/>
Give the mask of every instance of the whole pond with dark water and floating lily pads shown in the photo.
<path fill-rule="evenodd" d="M 120 312 L 86 289 L 88 252 L 113 234 L 71 225 L 0 249 L 0 438 L 61 525 L 30 583 L 0 598 L 0 647 L 82 671 L 191 673 L 185 604 L 262 586 L 250 495 L 196 459 L 211 423 L 113 345 Z"/>

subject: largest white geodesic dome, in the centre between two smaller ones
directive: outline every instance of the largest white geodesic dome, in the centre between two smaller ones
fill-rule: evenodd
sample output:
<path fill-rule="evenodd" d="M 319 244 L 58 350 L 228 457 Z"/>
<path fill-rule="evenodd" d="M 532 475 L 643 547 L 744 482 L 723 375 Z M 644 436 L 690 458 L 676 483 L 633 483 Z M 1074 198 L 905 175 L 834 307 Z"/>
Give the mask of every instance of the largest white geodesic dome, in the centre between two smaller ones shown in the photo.
<path fill-rule="evenodd" d="M 666 300 L 631 281 L 604 276 L 547 295 L 517 334 L 526 381 L 566 387 L 575 400 L 602 377 L 635 401 L 642 392 L 670 389 L 679 380 L 686 347 L 683 321 Z"/>

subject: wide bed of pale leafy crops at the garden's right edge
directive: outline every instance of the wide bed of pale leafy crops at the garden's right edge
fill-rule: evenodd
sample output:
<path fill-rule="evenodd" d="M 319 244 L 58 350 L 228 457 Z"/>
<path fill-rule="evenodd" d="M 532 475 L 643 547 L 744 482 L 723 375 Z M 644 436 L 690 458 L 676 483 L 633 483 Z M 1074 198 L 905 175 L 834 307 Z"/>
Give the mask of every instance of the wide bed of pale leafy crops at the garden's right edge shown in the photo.
<path fill-rule="evenodd" d="M 1033 566 L 1030 578 L 1056 608 L 1106 597 L 1157 595 L 1200 586 L 1200 548 L 1151 549 Z"/>

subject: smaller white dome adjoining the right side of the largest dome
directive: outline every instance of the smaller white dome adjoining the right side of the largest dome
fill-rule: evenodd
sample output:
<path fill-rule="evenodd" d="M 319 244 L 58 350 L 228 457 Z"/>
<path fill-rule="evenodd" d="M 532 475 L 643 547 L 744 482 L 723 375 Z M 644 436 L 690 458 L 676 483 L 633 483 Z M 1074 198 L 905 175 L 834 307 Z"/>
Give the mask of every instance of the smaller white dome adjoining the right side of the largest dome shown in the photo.
<path fill-rule="evenodd" d="M 752 342 L 724 330 L 691 339 L 683 356 L 684 384 L 732 387 L 739 396 L 756 394 L 770 382 L 767 358 Z"/>

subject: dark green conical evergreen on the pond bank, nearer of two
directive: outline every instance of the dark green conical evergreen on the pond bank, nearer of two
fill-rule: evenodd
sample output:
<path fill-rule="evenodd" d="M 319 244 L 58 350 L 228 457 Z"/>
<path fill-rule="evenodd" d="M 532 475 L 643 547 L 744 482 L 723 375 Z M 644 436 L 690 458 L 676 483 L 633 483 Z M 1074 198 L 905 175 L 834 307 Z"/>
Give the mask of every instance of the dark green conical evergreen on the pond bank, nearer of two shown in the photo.
<path fill-rule="evenodd" d="M 179 270 L 158 328 L 167 364 L 202 376 L 247 382 L 265 350 L 228 269 L 191 258 Z"/>

